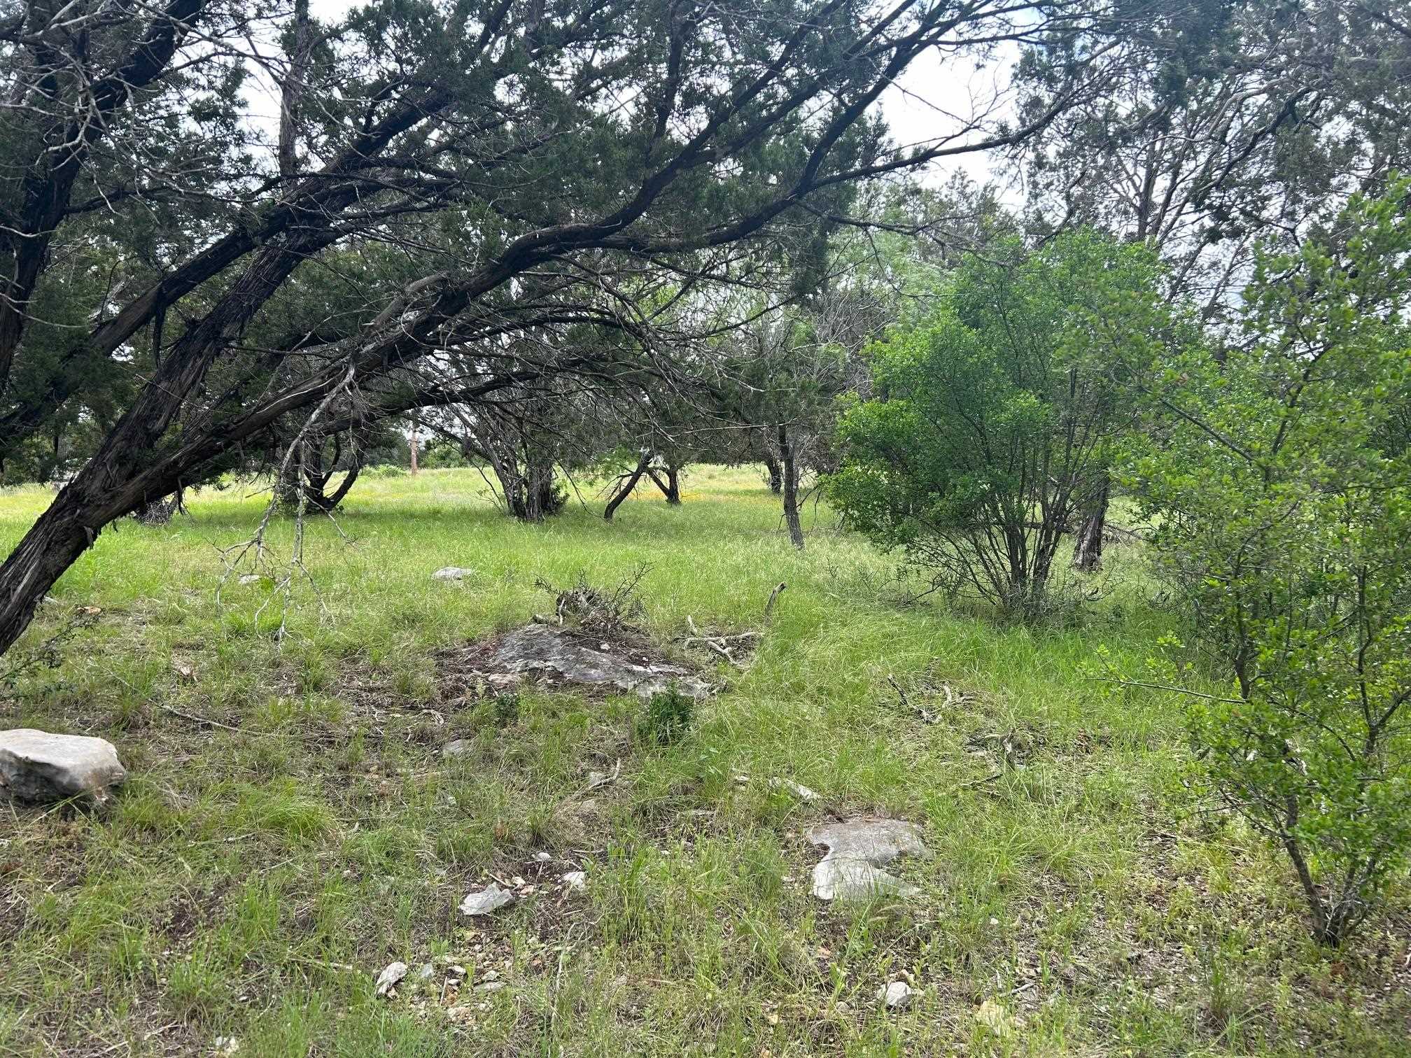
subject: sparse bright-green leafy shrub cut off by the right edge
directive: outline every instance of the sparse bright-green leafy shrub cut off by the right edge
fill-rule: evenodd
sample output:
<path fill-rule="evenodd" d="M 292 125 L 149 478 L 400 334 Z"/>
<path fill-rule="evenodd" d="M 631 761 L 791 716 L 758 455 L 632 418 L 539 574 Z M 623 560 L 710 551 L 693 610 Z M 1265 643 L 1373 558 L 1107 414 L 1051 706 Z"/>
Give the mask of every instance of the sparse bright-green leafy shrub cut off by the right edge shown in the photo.
<path fill-rule="evenodd" d="M 1411 851 L 1411 217 L 1355 199 L 1345 248 L 1264 255 L 1245 333 L 1137 367 L 1129 482 L 1233 683 L 1191 711 L 1211 789 L 1291 856 L 1340 942 Z"/>

